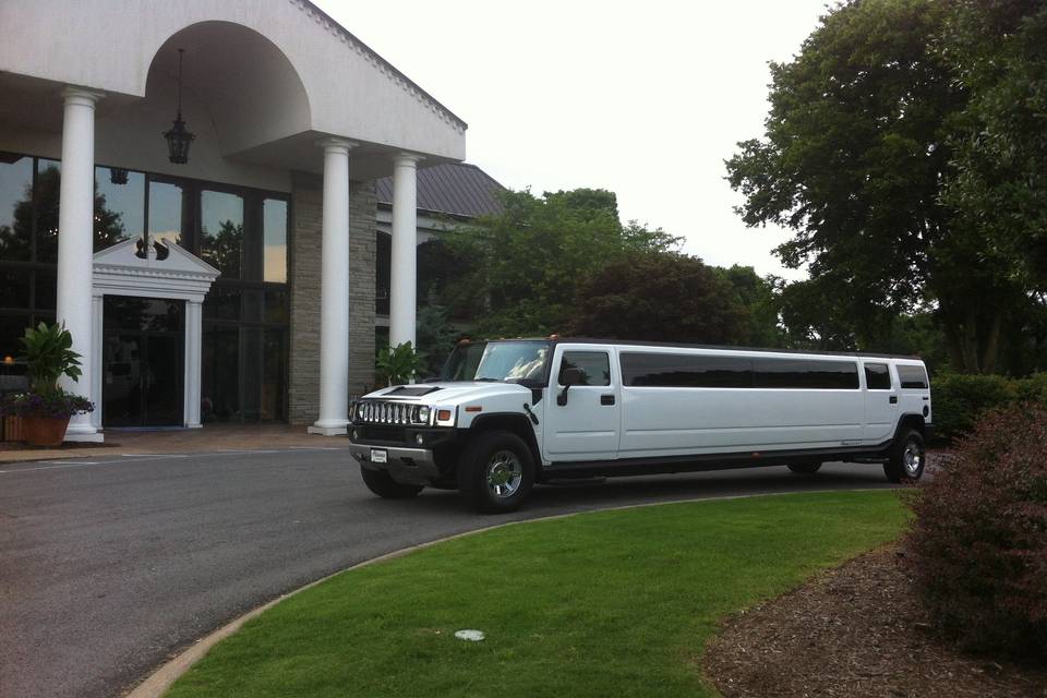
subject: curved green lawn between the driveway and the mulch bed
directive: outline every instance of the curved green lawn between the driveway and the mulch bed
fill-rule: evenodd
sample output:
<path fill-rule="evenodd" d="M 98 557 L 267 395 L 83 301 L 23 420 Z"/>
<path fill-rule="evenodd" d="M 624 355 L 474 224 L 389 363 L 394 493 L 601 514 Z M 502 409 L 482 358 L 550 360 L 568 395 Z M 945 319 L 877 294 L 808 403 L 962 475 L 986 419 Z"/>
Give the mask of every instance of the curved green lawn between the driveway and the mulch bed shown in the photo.
<path fill-rule="evenodd" d="M 892 492 L 753 497 L 508 526 L 348 571 L 215 647 L 168 694 L 714 696 L 718 621 L 895 538 Z M 483 642 L 455 630 L 479 628 Z"/>

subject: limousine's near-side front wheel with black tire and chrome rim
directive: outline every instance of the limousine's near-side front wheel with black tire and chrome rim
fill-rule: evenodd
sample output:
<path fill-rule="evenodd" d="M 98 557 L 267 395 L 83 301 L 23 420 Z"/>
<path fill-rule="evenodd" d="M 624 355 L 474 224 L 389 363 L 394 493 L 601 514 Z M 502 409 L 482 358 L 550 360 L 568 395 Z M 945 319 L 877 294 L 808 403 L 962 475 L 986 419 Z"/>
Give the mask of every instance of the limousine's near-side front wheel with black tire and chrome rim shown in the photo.
<path fill-rule="evenodd" d="M 534 486 L 534 458 L 512 432 L 473 436 L 458 460 L 458 491 L 485 514 L 515 512 Z"/>

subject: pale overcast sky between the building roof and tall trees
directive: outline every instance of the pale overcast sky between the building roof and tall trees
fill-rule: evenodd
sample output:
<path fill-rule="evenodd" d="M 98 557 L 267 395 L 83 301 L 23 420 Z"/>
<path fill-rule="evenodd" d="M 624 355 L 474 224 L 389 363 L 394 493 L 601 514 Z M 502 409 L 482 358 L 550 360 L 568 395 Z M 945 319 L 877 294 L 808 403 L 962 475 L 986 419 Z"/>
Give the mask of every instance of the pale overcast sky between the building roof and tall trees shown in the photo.
<path fill-rule="evenodd" d="M 504 185 L 609 189 L 707 263 L 804 276 L 771 255 L 785 232 L 733 213 L 723 160 L 825 0 L 315 1 L 468 122 L 468 161 Z"/>

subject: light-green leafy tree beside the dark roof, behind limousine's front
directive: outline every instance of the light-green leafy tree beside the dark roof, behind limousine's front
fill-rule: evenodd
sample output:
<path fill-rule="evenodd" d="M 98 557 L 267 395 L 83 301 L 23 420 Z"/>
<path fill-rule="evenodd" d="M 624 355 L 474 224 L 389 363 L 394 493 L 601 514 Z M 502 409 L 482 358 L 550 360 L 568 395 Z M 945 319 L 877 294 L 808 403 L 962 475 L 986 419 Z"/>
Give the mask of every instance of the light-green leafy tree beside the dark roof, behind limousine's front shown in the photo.
<path fill-rule="evenodd" d="M 623 226 L 611 192 L 505 192 L 504 210 L 444 237 L 461 262 L 438 299 L 486 336 L 563 332 L 578 279 L 630 252 L 665 251 L 677 238 Z"/>

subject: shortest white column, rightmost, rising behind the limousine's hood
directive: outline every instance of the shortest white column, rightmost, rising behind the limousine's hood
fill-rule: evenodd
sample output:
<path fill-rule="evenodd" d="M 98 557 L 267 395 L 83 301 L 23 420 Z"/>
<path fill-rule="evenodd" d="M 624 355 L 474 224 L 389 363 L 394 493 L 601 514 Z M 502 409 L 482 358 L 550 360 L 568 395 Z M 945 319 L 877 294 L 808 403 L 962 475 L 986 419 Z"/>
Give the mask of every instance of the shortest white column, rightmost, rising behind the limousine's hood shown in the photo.
<path fill-rule="evenodd" d="M 389 345 L 414 345 L 414 294 L 418 282 L 418 155 L 393 160 L 393 268 L 389 293 Z"/>

